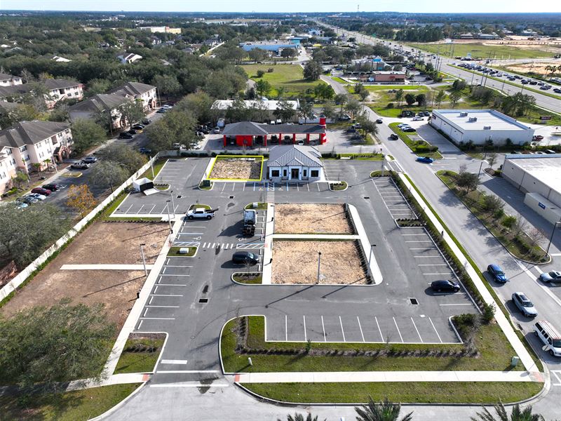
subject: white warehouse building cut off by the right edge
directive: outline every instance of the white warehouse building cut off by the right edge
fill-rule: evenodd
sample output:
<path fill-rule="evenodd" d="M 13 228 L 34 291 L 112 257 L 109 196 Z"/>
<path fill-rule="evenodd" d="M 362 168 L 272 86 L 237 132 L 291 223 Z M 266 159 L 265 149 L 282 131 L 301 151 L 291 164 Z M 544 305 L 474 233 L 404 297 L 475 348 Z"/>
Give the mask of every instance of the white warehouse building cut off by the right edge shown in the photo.
<path fill-rule="evenodd" d="M 525 193 L 524 203 L 552 224 L 561 220 L 561 154 L 511 154 L 503 178 Z"/>

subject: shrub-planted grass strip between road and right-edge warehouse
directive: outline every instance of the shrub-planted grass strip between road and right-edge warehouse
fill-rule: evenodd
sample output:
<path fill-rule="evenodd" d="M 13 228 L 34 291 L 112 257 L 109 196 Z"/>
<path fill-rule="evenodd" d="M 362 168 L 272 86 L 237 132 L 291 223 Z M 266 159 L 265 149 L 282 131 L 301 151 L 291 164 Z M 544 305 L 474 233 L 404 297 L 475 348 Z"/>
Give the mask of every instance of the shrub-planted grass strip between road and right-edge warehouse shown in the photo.
<path fill-rule="evenodd" d="M 467 206 L 471 213 L 492 232 L 496 239 L 498 239 L 508 251 L 513 253 L 517 258 L 529 260 L 534 263 L 541 262 L 543 255 L 546 254 L 545 250 L 537 245 L 531 246 L 529 239 L 522 241 L 515 239 L 515 236 L 510 230 L 501 225 L 499 220 L 496 220 L 485 211 L 483 207 L 484 196 L 480 194 L 479 190 L 469 192 L 468 194 L 460 193 L 456 184 L 457 173 L 453 171 L 438 171 L 436 175 L 438 175 L 438 178 L 456 194 L 457 198 Z M 504 218 L 505 217 L 501 217 L 501 220 L 504 220 Z"/>

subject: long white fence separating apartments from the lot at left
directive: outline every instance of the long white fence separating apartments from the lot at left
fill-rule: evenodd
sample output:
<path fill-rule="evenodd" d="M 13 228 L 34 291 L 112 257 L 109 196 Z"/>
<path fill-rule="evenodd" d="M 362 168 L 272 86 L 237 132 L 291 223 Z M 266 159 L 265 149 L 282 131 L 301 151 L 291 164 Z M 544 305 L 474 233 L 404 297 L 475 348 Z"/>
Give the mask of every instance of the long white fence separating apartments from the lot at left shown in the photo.
<path fill-rule="evenodd" d="M 114 199 L 123 192 L 123 190 L 130 185 L 139 175 L 147 171 L 150 168 L 151 162 L 156 161 L 158 159 L 158 154 L 154 156 L 150 161 L 144 164 L 142 168 L 140 168 L 136 173 L 134 173 L 126 182 L 123 182 L 115 191 L 110 194 L 104 201 L 102 201 L 99 205 L 95 207 L 88 215 L 86 215 L 80 222 L 78 222 L 74 227 L 72 227 L 69 232 L 67 232 L 64 236 L 60 237 L 53 246 L 50 246 L 45 250 L 38 258 L 36 258 L 33 262 L 31 262 L 25 269 L 23 269 L 18 275 L 14 276 L 13 279 L 6 283 L 2 289 L 0 289 L 0 302 L 4 300 L 10 293 L 12 293 L 18 286 L 20 286 L 25 280 L 37 269 L 39 266 L 43 265 L 44 262 L 50 258 L 54 253 L 56 253 L 62 246 L 64 246 L 68 241 L 74 238 L 79 232 L 88 225 L 88 222 L 93 220 L 109 203 L 114 201 Z"/>

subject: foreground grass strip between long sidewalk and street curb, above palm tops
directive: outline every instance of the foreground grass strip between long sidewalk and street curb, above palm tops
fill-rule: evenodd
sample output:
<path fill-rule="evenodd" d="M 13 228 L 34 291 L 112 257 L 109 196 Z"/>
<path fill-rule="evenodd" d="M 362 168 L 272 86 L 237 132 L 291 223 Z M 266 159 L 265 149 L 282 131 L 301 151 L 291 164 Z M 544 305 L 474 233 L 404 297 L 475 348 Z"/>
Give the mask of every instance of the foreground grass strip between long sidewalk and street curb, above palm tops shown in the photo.
<path fill-rule="evenodd" d="M 357 382 L 246 383 L 243 387 L 266 398 L 298 403 L 358 403 L 387 397 L 405 403 L 503 403 L 537 394 L 543 383 L 533 382 Z M 401 413 L 410 412 L 402 408 Z M 413 414 L 414 415 L 414 414 Z"/>

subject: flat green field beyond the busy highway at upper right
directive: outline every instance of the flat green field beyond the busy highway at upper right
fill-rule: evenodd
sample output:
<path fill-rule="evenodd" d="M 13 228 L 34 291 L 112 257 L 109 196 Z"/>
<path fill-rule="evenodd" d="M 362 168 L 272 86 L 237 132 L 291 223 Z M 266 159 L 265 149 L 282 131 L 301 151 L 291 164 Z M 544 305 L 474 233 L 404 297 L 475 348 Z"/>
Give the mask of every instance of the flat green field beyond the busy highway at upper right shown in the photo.
<path fill-rule="evenodd" d="M 561 52 L 561 45 L 551 45 L 552 51 L 546 51 L 544 46 L 540 45 L 536 48 L 534 44 L 492 44 L 496 41 L 461 41 L 454 40 L 454 44 L 441 44 L 441 43 L 409 43 L 408 46 L 419 48 L 421 51 L 428 53 L 440 53 L 448 57 L 466 57 L 471 53 L 473 59 L 485 59 L 490 55 L 494 55 L 496 60 L 507 60 L 509 58 L 548 58 Z M 499 41 L 506 43 L 508 41 Z M 452 52 L 453 48 L 453 52 Z M 453 54 L 452 54 L 453 53 Z"/>

